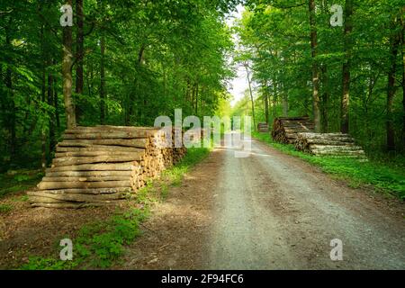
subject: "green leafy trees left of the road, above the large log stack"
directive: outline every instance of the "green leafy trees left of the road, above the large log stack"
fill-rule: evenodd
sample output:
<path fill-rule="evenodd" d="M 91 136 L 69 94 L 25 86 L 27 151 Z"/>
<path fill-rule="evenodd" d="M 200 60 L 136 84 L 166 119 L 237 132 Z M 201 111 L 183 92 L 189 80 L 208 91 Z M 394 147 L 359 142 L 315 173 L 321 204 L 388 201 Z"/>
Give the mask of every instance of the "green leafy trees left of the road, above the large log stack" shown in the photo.
<path fill-rule="evenodd" d="M 147 126 L 175 108 L 211 115 L 225 97 L 233 1 L 70 0 L 72 27 L 62 4 L 1 1 L 2 170 L 49 163 L 69 121 Z"/>

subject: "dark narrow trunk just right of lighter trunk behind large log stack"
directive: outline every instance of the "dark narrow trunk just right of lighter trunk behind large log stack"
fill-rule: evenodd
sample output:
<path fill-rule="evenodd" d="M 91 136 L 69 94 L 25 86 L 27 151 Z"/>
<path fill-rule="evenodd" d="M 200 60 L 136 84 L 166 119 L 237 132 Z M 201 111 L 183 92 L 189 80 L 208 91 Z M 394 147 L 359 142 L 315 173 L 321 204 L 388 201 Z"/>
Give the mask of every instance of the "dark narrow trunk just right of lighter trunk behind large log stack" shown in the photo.
<path fill-rule="evenodd" d="M 83 94 L 83 58 L 85 55 L 85 36 L 83 30 L 84 12 L 83 0 L 76 0 L 76 94 Z M 82 114 L 80 106 L 76 105 L 76 118 L 80 119 Z"/>

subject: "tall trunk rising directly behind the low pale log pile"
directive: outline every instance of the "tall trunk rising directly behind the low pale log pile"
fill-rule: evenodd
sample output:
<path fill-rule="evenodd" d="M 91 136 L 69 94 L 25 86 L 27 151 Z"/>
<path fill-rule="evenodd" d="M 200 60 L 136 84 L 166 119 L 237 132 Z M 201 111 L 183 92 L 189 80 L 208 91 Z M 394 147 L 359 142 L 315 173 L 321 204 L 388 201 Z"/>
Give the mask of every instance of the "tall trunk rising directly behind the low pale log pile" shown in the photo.
<path fill-rule="evenodd" d="M 340 131 L 348 133 L 349 131 L 349 104 L 350 104 L 350 65 L 352 58 L 352 23 L 353 0 L 346 0 L 345 5 L 345 34 L 344 34 L 344 52 L 345 59 L 343 63 L 342 79 L 342 103 L 341 103 L 341 125 Z"/>

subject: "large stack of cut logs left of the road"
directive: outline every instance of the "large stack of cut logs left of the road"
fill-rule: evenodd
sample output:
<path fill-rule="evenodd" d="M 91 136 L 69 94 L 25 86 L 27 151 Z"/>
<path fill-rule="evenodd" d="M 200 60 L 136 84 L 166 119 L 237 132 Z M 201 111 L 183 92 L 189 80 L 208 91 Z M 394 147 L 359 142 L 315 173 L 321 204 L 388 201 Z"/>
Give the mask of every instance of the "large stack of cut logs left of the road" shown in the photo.
<path fill-rule="evenodd" d="M 174 130 L 171 134 L 175 143 Z M 38 191 L 28 192 L 31 205 L 81 208 L 116 202 L 184 156 L 184 147 L 171 148 L 167 143 L 165 131 L 157 128 L 67 130 Z"/>

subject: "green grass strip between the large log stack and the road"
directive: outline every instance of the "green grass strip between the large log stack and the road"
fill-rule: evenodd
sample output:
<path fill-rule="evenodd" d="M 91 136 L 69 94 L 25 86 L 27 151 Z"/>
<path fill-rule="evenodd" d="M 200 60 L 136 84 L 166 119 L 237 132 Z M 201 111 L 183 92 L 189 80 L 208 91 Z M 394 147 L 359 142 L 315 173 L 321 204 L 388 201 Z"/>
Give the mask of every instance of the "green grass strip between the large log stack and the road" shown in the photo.
<path fill-rule="evenodd" d="M 119 263 L 124 247 L 141 235 L 139 226 L 148 219 L 154 202 L 164 201 L 170 186 L 181 184 L 184 174 L 210 153 L 207 148 L 190 148 L 185 157 L 175 166 L 167 169 L 159 179 L 151 180 L 136 194 L 130 196 L 128 207 L 117 209 L 108 220 L 95 221 L 79 229 L 73 242 L 73 260 L 59 259 L 59 243 L 55 243 L 55 253 L 49 257 L 29 257 L 23 270 L 68 270 L 106 269 Z"/>

